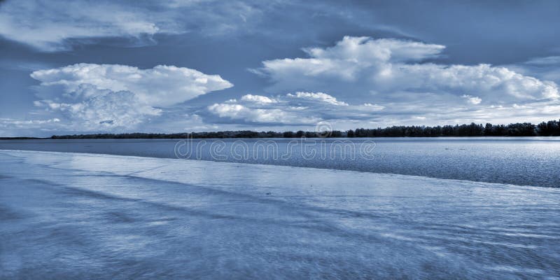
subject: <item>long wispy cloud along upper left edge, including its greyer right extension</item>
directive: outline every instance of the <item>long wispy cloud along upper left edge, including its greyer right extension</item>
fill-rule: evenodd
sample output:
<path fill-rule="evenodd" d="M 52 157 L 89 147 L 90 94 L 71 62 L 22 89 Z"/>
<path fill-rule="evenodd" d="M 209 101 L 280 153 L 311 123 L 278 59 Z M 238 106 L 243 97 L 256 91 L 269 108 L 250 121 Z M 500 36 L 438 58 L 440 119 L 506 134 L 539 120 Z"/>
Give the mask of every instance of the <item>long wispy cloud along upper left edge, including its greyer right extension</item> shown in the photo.
<path fill-rule="evenodd" d="M 243 1 L 209 2 L 8 0 L 0 5 L 0 35 L 47 52 L 102 37 L 149 45 L 155 34 L 227 34 L 259 15 Z"/>

